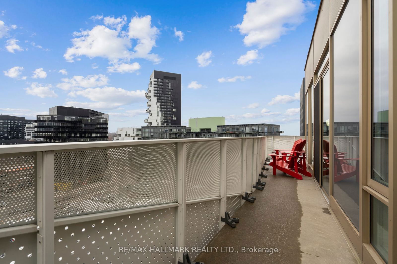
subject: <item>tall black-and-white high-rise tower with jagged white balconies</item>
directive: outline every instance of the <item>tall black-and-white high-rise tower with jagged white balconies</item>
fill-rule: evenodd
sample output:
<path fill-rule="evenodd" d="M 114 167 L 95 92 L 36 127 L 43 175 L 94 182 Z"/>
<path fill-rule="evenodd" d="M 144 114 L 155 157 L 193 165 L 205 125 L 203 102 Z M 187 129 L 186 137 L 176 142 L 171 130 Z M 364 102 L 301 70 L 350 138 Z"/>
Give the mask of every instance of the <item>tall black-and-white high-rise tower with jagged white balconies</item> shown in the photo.
<path fill-rule="evenodd" d="M 145 97 L 148 126 L 181 125 L 181 74 L 154 70 Z"/>

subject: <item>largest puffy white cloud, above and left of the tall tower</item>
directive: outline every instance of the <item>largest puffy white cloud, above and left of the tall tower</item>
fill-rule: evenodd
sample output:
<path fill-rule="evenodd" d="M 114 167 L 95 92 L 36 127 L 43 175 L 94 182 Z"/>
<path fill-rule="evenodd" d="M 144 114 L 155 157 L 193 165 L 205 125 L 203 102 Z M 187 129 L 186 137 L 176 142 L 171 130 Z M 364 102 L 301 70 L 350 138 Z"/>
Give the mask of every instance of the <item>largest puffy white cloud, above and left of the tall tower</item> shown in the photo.
<path fill-rule="evenodd" d="M 109 27 L 96 25 L 91 30 L 74 32 L 72 46 L 66 49 L 64 58 L 72 62 L 82 56 L 102 57 L 108 59 L 109 64 L 113 66 L 129 63 L 131 59 L 136 58 L 160 63 L 160 57 L 150 53 L 156 46 L 159 34 L 159 30 L 152 26 L 151 19 L 150 15 L 132 17 L 127 31 L 118 31 L 109 27 L 118 29 L 119 25 L 124 23 L 123 17 L 121 17 L 121 24 L 115 22 L 117 19 L 109 18 L 104 22 Z M 135 40 L 135 47 L 132 46 L 132 40 Z"/>

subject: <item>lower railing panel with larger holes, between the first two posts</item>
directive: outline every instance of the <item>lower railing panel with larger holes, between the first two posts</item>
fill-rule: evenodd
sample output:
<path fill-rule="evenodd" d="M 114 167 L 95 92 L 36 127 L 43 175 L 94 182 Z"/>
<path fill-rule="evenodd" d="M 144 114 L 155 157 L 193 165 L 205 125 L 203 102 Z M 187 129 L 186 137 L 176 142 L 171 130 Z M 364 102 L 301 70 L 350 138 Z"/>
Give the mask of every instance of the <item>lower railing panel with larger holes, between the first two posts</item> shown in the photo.
<path fill-rule="evenodd" d="M 55 263 L 175 263 L 176 207 L 55 228 Z M 134 247 L 146 247 L 136 252 Z"/>

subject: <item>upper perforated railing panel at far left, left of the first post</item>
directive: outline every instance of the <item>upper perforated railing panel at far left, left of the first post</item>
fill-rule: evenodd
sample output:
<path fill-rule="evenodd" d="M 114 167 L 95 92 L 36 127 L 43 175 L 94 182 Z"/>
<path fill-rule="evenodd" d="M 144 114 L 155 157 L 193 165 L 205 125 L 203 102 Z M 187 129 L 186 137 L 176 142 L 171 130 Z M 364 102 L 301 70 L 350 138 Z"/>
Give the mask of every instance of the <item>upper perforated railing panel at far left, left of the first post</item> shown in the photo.
<path fill-rule="evenodd" d="M 36 223 L 35 152 L 0 155 L 0 228 Z"/>

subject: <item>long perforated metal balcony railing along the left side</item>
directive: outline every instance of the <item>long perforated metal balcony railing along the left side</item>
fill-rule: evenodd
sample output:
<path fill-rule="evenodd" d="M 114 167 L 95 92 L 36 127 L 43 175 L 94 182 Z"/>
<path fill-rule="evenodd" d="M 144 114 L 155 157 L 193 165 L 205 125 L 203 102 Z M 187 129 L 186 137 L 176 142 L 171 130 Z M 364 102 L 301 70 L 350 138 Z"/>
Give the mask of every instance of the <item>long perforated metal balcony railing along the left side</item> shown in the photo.
<path fill-rule="evenodd" d="M 0 146 L 0 263 L 194 260 L 254 190 L 265 139 Z"/>

